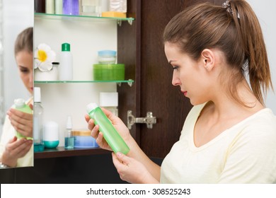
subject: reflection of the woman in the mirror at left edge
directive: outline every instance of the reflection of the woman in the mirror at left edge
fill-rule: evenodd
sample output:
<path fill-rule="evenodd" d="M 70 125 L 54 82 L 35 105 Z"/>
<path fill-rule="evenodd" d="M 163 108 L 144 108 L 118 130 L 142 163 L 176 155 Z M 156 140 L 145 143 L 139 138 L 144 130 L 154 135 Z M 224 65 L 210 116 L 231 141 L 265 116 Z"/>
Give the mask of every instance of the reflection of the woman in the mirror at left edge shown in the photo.
<path fill-rule="evenodd" d="M 33 95 L 33 28 L 27 28 L 18 35 L 14 53 L 21 80 Z M 33 108 L 33 97 L 26 104 Z M 16 132 L 33 137 L 33 115 L 10 108 L 0 141 L 1 168 L 33 166 L 33 140 L 17 139 Z"/>

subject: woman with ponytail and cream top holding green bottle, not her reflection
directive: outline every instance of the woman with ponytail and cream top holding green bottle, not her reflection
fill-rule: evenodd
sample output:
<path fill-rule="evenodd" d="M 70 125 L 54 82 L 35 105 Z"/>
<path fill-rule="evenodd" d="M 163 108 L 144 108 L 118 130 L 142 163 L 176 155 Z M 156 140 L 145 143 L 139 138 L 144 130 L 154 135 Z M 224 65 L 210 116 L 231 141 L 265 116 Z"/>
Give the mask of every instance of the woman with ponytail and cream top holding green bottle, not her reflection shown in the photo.
<path fill-rule="evenodd" d="M 180 86 L 194 107 L 161 168 L 145 156 L 122 121 L 105 110 L 130 146 L 127 156 L 113 153 L 122 180 L 276 182 L 276 117 L 263 100 L 272 88 L 270 69 L 249 4 L 233 0 L 223 6 L 191 6 L 168 23 L 163 41 L 173 86 Z M 86 120 L 98 144 L 110 149 L 98 126 Z"/>

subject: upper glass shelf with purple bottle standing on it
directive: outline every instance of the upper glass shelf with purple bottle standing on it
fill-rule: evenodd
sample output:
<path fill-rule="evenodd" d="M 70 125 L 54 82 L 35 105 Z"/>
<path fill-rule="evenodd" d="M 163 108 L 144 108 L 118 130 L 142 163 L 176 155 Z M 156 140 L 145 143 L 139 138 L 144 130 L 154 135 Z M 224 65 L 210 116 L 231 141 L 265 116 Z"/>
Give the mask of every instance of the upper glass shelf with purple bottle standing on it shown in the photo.
<path fill-rule="evenodd" d="M 93 19 L 93 20 L 109 20 L 109 21 L 117 21 L 120 25 L 122 21 L 127 21 L 132 25 L 134 18 L 117 18 L 117 17 L 101 17 L 101 16 L 83 16 L 83 15 L 65 15 L 65 14 L 52 14 L 52 13 L 35 13 L 35 18 L 43 18 L 43 19 L 55 19 L 60 20 L 64 18 L 82 18 L 82 19 Z"/>

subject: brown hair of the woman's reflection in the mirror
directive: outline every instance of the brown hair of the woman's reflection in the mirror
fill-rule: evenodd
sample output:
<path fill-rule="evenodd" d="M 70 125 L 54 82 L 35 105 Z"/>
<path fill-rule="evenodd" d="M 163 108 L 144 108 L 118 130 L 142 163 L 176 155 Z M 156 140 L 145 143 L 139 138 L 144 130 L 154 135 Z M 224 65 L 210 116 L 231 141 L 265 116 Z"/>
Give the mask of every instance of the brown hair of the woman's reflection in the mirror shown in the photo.
<path fill-rule="evenodd" d="M 23 50 L 33 53 L 33 28 L 26 28 L 16 38 L 14 54 Z"/>

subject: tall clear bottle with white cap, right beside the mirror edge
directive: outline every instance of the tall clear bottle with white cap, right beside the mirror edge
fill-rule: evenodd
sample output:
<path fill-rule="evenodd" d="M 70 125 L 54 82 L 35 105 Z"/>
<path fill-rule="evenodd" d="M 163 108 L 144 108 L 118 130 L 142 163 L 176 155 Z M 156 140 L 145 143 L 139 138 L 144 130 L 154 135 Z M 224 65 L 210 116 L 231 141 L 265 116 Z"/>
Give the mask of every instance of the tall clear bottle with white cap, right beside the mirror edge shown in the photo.
<path fill-rule="evenodd" d="M 34 151 L 40 152 L 44 151 L 44 141 L 43 141 L 43 107 L 41 105 L 41 95 L 40 88 L 34 87 L 34 105 L 33 105 L 33 144 Z"/>

